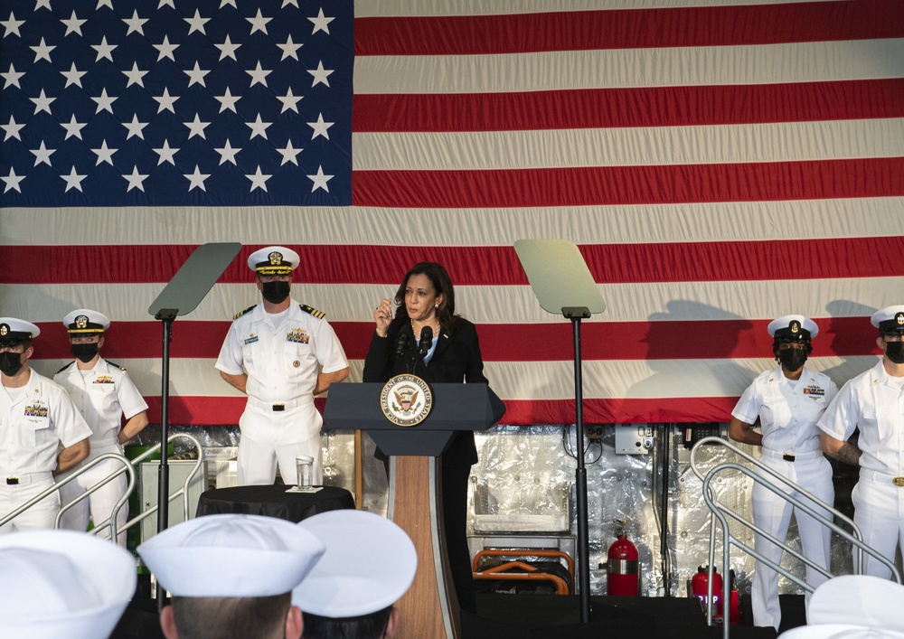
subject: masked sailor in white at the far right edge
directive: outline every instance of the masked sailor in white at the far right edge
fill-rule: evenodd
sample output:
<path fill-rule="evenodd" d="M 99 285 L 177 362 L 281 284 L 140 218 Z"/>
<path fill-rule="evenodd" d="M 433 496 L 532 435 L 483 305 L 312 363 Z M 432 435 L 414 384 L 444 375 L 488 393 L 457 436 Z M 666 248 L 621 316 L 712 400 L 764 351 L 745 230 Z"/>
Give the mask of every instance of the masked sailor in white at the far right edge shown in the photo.
<path fill-rule="evenodd" d="M 904 305 L 877 311 L 871 324 L 882 360 L 844 384 L 819 428 L 826 453 L 860 465 L 851 500 L 863 543 L 894 561 L 895 547 L 904 549 Z M 855 428 L 856 444 L 848 441 Z M 877 559 L 864 554 L 863 561 L 865 574 L 890 578 Z"/>

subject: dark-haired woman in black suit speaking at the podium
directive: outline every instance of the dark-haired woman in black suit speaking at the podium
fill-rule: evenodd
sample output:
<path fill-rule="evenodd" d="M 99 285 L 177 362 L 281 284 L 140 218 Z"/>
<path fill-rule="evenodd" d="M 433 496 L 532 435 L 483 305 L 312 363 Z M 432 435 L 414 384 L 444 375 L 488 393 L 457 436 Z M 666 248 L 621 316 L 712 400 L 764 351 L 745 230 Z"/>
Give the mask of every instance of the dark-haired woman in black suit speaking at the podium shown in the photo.
<path fill-rule="evenodd" d="M 436 262 L 410 268 L 392 304 L 373 311 L 376 331 L 364 360 L 363 381 L 413 374 L 428 383 L 487 383 L 474 324 L 455 314 L 455 290 Z M 449 568 L 462 610 L 476 613 L 466 540 L 467 480 L 477 461 L 474 435 L 459 432 L 439 457 Z"/>

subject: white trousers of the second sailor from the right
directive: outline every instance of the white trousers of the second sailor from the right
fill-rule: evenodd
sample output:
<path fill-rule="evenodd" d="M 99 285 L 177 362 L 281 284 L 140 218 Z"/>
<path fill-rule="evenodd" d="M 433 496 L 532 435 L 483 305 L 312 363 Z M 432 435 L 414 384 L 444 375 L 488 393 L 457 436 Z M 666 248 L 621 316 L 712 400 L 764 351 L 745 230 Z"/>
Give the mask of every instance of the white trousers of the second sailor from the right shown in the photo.
<path fill-rule="evenodd" d="M 801 486 L 806 491 L 813 493 L 825 503 L 834 503 L 835 492 L 832 485 L 832 466 L 823 456 L 810 459 L 798 457 L 794 462 L 786 462 L 774 459 L 764 451 L 760 461 L 779 475 Z M 762 476 L 768 478 L 765 473 Z M 780 484 L 779 484 L 780 485 Z M 780 485 L 783 493 L 806 502 L 803 494 L 790 491 L 786 486 Z M 814 508 L 815 504 L 807 503 Z M 824 512 L 824 509 L 816 508 Z M 779 540 L 787 536 L 788 525 L 791 522 L 791 513 L 794 512 L 797 521 L 797 531 L 800 535 L 801 546 L 807 559 L 812 559 L 823 568 L 830 565 L 831 531 L 822 523 L 800 509 L 794 508 L 791 503 L 772 493 L 765 486 L 754 484 L 753 486 L 753 522 L 758 528 L 767 531 Z M 777 546 L 762 535 L 755 535 L 754 548 L 762 555 L 781 563 L 784 548 Z M 806 568 L 806 581 L 816 587 L 825 581 L 825 577 L 815 569 Z M 754 573 L 753 585 L 750 590 L 750 600 L 753 605 L 754 625 L 771 625 L 778 629 L 782 620 L 781 608 L 778 606 L 778 573 L 767 566 L 757 563 Z"/>

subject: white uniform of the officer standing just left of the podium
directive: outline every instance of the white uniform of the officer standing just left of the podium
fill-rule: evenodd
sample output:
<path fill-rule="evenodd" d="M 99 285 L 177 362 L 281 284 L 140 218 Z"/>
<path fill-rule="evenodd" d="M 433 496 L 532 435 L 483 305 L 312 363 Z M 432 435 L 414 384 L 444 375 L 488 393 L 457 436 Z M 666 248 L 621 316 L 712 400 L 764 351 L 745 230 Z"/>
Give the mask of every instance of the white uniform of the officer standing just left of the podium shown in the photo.
<path fill-rule="evenodd" d="M 320 371 L 348 367 L 342 344 L 324 314 L 292 302 L 269 315 L 255 305 L 237 315 L 223 342 L 216 368 L 248 374 L 248 403 L 239 421 L 239 484 L 272 484 L 279 472 L 297 483 L 295 458 L 314 458 L 314 483 L 323 483 L 320 427 L 314 406 Z"/>

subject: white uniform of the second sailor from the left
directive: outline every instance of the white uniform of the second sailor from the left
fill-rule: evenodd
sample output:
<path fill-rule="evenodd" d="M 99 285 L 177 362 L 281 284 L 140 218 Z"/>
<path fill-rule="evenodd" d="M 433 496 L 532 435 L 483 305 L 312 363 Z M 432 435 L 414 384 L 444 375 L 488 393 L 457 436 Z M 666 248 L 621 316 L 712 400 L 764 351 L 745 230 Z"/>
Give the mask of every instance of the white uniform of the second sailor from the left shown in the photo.
<path fill-rule="evenodd" d="M 129 378 L 126 369 L 100 357 L 94 368 L 88 371 L 81 371 L 76 362 L 70 362 L 57 371 L 53 376 L 53 381 L 56 381 L 69 393 L 82 417 L 91 428 L 91 452 L 88 458 L 77 467 L 80 468 L 90 460 L 106 453 L 121 455 L 123 449 L 117 436 L 122 428 L 122 417 L 130 419 L 147 410 L 145 399 Z M 69 484 L 60 487 L 61 503 L 70 503 L 91 486 L 121 467 L 122 465 L 113 459 L 94 466 Z M 62 478 L 60 477 L 60 479 Z M 61 528 L 86 531 L 89 513 L 95 525 L 108 521 L 113 507 L 126 493 L 127 484 L 125 474 L 104 484 L 89 498 L 81 500 L 69 511 L 63 513 Z M 128 504 L 119 509 L 118 528 L 126 525 L 127 519 Z M 125 535 L 122 535 L 121 542 L 125 543 Z"/>

